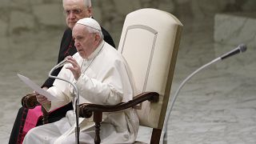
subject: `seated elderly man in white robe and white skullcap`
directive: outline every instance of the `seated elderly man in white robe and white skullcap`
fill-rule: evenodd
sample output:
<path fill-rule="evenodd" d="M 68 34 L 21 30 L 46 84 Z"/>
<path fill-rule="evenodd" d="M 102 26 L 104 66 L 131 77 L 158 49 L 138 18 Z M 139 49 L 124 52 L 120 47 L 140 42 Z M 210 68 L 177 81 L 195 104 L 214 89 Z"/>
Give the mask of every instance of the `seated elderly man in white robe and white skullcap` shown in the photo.
<path fill-rule="evenodd" d="M 75 24 L 72 35 L 78 53 L 66 58 L 68 63 L 58 77 L 74 82 L 80 93 L 80 103 L 115 105 L 131 100 L 136 94 L 132 74 L 122 54 L 102 39 L 98 22 L 82 18 Z M 74 95 L 73 86 L 58 79 L 47 91 L 63 100 L 50 102 L 46 97 L 37 95 L 38 102 L 49 111 L 71 102 Z M 70 110 L 66 118 L 30 130 L 23 143 L 74 143 L 75 121 L 74 111 Z M 92 119 L 79 118 L 79 126 L 79 142 L 94 143 Z M 102 143 L 132 143 L 137 134 L 138 115 L 134 109 L 103 113 Z"/>

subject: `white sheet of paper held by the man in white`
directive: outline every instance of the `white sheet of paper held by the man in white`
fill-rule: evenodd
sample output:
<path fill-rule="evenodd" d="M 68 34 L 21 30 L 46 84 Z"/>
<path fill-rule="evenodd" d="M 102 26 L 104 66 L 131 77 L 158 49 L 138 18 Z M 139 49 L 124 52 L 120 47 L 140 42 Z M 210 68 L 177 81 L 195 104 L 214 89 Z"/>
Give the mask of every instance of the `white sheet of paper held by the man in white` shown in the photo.
<path fill-rule="evenodd" d="M 26 83 L 27 86 L 30 86 L 30 88 L 38 92 L 38 94 L 41 94 L 46 98 L 48 98 L 49 101 L 62 101 L 62 99 L 55 97 L 54 95 L 48 93 L 46 90 L 42 90 L 42 88 L 37 84 L 35 84 L 34 82 L 32 82 L 30 78 L 27 78 L 22 74 L 17 74 L 17 75 L 18 75 L 18 78 L 21 78 L 22 82 Z"/>

